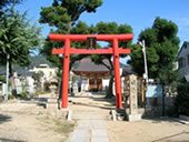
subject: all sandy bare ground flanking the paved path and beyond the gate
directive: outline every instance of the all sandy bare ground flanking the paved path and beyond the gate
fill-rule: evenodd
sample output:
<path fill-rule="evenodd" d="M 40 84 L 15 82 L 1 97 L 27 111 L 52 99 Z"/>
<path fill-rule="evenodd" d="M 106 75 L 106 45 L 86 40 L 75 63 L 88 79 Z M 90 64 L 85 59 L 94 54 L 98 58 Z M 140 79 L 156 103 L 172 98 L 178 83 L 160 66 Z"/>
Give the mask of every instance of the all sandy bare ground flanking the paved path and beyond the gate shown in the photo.
<path fill-rule="evenodd" d="M 77 112 L 103 114 L 115 108 L 103 95 L 70 98 L 69 108 Z M 36 100 L 0 103 L 0 142 L 63 142 L 74 122 L 48 118 Z M 173 119 L 149 119 L 138 122 L 107 120 L 110 142 L 189 142 L 189 125 Z"/>

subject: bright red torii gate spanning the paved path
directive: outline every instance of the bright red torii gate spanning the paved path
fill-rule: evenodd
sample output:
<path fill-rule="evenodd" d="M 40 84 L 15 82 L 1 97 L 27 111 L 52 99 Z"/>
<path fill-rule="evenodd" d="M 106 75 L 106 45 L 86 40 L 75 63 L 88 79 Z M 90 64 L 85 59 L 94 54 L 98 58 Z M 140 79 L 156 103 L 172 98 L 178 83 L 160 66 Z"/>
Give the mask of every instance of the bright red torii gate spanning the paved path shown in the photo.
<path fill-rule="evenodd" d="M 74 49 L 70 47 L 71 41 L 87 41 L 93 38 L 97 41 L 111 41 L 112 48 L 108 49 Z M 62 71 L 62 109 L 68 108 L 68 82 L 69 82 L 69 62 L 70 53 L 78 54 L 113 54 L 115 77 L 116 77 L 116 105 L 122 108 L 121 100 L 121 80 L 119 54 L 129 54 L 130 49 L 118 47 L 119 41 L 132 40 L 133 34 L 49 34 L 50 40 L 64 41 L 64 48 L 52 49 L 52 54 L 63 54 Z"/>

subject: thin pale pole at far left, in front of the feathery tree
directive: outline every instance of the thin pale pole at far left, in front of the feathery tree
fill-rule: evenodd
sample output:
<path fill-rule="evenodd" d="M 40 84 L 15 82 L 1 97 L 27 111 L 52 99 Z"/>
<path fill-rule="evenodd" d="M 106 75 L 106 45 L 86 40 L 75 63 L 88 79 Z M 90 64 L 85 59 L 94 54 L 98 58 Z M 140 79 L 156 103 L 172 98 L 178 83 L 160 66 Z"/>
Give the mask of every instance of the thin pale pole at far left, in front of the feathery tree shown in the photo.
<path fill-rule="evenodd" d="M 9 98 L 9 58 L 10 58 L 10 55 L 8 54 L 7 55 L 7 73 L 6 73 L 7 91 L 6 91 L 6 94 L 4 94 L 4 102 L 7 102 L 8 98 Z"/>

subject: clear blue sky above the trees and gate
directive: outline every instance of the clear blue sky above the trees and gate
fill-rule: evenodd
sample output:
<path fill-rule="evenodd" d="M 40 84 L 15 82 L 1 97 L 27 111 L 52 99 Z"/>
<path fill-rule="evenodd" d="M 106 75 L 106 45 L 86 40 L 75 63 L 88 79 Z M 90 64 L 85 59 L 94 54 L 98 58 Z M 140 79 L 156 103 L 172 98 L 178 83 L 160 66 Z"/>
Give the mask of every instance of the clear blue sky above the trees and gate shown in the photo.
<path fill-rule="evenodd" d="M 26 0 L 17 6 L 21 12 L 28 11 L 28 17 L 38 21 L 40 8 L 49 7 L 52 0 Z M 189 41 L 189 0 L 103 0 L 103 4 L 96 13 L 82 13 L 81 21 L 96 24 L 100 21 L 127 23 L 133 29 L 133 42 L 137 41 L 141 30 L 152 26 L 156 17 L 166 18 L 177 23 L 180 45 Z M 49 28 L 42 24 L 43 36 L 48 36 Z"/>

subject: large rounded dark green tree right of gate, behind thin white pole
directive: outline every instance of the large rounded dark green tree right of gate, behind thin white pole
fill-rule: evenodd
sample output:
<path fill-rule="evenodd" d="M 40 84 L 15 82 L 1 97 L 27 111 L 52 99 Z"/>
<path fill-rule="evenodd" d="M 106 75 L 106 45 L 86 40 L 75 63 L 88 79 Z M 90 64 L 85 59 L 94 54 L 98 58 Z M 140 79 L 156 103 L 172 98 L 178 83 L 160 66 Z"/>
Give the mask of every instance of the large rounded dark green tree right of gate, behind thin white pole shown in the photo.
<path fill-rule="evenodd" d="M 176 23 L 158 17 L 151 28 L 139 34 L 138 40 L 146 41 L 149 78 L 159 79 L 163 84 L 171 83 L 177 77 L 177 71 L 173 70 L 180 42 L 177 33 Z M 142 75 L 145 72 L 142 49 L 133 44 L 131 52 L 129 63 L 135 72 Z"/>

